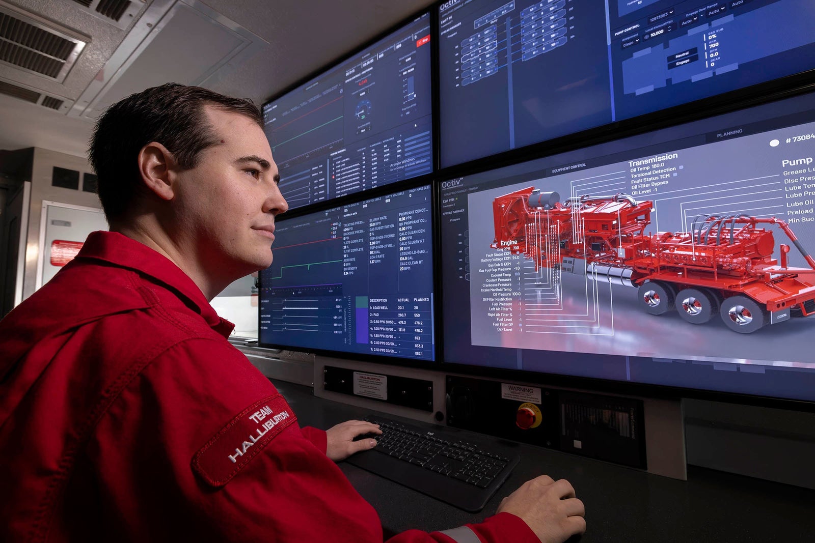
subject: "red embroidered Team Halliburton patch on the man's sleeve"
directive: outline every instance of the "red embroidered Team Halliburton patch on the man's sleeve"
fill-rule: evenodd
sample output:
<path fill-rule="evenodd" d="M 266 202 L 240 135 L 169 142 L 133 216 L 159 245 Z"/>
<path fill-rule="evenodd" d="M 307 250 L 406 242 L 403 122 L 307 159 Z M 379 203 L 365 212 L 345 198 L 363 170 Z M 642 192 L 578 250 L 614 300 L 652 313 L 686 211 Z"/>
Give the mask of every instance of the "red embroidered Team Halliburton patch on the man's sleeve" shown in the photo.
<path fill-rule="evenodd" d="M 257 401 L 201 447 L 192 457 L 192 469 L 207 483 L 222 487 L 296 420 L 280 394 Z"/>

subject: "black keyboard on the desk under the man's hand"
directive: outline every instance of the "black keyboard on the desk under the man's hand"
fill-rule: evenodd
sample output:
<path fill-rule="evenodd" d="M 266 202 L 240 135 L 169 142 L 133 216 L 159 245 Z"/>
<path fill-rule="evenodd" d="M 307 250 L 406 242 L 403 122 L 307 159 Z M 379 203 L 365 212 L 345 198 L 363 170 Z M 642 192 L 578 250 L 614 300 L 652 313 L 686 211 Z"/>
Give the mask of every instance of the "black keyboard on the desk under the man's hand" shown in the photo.
<path fill-rule="evenodd" d="M 378 415 L 365 420 L 378 424 L 382 435 L 373 436 L 374 449 L 346 462 L 466 511 L 482 510 L 518 464 L 509 445 L 470 443 L 455 430 Z"/>

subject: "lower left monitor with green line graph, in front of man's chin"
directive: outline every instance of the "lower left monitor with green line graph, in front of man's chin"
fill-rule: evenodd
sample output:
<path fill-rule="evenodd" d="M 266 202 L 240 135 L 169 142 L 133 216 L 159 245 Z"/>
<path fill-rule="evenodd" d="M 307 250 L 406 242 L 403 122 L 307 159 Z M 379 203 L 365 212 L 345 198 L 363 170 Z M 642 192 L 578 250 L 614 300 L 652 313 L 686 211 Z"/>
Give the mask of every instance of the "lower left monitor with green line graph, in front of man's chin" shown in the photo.
<path fill-rule="evenodd" d="M 266 346 L 434 359 L 430 186 L 278 221 Z"/>

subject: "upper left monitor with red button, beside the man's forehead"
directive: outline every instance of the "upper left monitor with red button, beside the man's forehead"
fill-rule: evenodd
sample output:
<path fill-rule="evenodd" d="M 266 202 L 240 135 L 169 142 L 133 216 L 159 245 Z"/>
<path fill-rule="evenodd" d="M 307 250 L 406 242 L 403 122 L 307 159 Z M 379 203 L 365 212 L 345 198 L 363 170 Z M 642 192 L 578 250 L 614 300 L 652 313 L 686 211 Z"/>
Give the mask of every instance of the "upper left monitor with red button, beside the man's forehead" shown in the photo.
<path fill-rule="evenodd" d="M 430 13 L 263 106 L 289 208 L 433 171 Z"/>

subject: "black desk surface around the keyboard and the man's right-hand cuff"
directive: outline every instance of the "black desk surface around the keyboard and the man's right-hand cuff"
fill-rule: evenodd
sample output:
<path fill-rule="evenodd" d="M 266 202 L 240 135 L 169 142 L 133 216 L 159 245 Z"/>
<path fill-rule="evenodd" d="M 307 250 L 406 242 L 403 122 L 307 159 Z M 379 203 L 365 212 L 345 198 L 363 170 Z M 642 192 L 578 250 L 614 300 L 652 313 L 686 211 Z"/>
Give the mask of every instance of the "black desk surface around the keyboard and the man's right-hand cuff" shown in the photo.
<path fill-rule="evenodd" d="M 317 398 L 311 388 L 302 385 L 275 382 L 275 386 L 302 426 L 328 428 L 376 413 Z M 478 522 L 495 512 L 501 498 L 524 481 L 547 474 L 569 480 L 584 501 L 588 528 L 581 543 L 815 541 L 813 490 L 694 466 L 688 467 L 687 481 L 672 480 L 524 444 L 520 453 L 521 462 L 509 480 L 476 514 L 356 466 L 343 462 L 341 469 L 376 508 L 386 536 L 410 528 L 431 532 Z"/>

